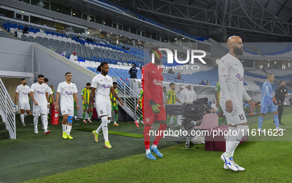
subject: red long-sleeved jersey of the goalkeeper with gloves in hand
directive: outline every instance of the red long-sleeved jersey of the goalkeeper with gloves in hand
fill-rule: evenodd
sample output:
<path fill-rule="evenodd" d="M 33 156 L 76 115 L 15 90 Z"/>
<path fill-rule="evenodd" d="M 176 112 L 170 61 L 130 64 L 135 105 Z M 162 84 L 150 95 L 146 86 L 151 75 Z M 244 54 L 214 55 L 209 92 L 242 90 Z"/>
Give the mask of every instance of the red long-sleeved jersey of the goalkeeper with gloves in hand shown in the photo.
<path fill-rule="evenodd" d="M 155 103 L 163 103 L 163 69 L 153 63 L 148 63 L 142 68 L 142 86 L 144 100 L 142 104 L 149 104 L 149 100 Z"/>

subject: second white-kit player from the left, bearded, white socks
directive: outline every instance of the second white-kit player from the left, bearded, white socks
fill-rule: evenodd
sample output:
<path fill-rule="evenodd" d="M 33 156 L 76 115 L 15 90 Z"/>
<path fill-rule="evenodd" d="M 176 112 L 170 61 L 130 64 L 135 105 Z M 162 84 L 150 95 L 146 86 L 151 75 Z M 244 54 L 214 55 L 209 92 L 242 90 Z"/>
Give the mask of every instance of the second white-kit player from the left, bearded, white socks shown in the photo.
<path fill-rule="evenodd" d="M 42 122 L 44 126 L 44 134 L 50 133 L 47 130 L 47 108 L 50 107 L 49 97 L 48 97 L 48 86 L 43 83 L 44 76 L 40 74 L 38 76 L 38 83 L 34 83 L 31 87 L 31 98 L 34 102 L 33 104 L 33 116 L 35 124 L 35 133 L 38 132 L 38 120 L 39 116 L 42 116 Z M 41 115 L 42 114 L 42 115 Z"/>

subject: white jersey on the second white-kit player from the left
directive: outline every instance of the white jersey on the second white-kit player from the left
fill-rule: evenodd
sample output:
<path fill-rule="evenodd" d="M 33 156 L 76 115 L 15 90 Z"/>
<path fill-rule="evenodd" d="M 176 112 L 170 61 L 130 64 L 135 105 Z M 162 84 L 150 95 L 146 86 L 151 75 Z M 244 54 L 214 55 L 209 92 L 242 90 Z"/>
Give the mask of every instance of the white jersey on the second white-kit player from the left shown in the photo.
<path fill-rule="evenodd" d="M 45 93 L 48 91 L 47 87 L 47 84 L 44 83 L 42 83 L 42 85 L 39 83 L 32 84 L 30 91 L 34 92 L 34 98 L 39 105 L 47 105 L 47 99 L 45 97 Z"/>

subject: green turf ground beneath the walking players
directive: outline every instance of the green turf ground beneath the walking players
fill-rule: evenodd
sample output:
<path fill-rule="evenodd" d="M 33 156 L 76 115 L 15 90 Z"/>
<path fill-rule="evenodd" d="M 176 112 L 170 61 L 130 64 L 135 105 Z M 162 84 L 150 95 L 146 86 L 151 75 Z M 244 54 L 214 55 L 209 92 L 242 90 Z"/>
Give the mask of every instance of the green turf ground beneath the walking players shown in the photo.
<path fill-rule="evenodd" d="M 284 108 L 283 115 L 292 113 Z M 258 115 L 248 116 L 251 128 L 257 127 Z M 275 128 L 272 114 L 264 118 L 263 128 Z M 292 131 L 289 116 L 282 122 Z M 61 121 L 60 118 L 59 121 Z M 33 117 L 25 118 L 26 127 L 16 115 L 16 140 L 0 140 L 0 183 L 48 182 L 48 183 L 98 183 L 98 182 L 291 182 L 292 142 L 252 141 L 240 144 L 234 159 L 245 167 L 245 172 L 223 169 L 222 152 L 205 151 L 204 144 L 192 145 L 185 150 L 185 143 L 162 140 L 159 150 L 163 158 L 151 161 L 145 158 L 143 138 L 131 138 L 109 134 L 112 149 L 104 147 L 103 135 L 96 143 L 93 135 L 74 130 L 79 127 L 96 129 L 100 122 L 73 122 L 71 135 L 62 138 L 62 125 L 50 125 L 51 133 L 34 133 Z M 118 122 L 120 126 L 108 125 L 109 130 L 143 134 L 143 124 Z M 41 119 L 39 119 L 39 125 Z M 159 124 L 153 124 L 154 130 Z M 174 125 L 170 125 L 174 127 Z M 280 125 L 281 126 L 281 125 Z M 283 125 L 282 125 L 283 126 Z M 284 127 L 283 127 L 284 128 Z M 151 141 L 152 143 L 152 141 Z"/>

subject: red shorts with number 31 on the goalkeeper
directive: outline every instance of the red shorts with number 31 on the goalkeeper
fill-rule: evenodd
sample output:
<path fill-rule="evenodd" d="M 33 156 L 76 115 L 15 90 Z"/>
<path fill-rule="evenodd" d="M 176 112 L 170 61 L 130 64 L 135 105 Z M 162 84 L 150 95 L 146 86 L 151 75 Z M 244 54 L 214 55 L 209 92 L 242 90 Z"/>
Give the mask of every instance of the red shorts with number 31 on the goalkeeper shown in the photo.
<path fill-rule="evenodd" d="M 152 108 L 150 104 L 143 104 L 142 113 L 143 113 L 143 122 L 144 124 L 152 124 L 155 121 L 167 120 L 167 114 L 164 108 L 163 103 L 160 103 L 161 107 L 159 107 L 160 113 L 153 114 Z"/>

